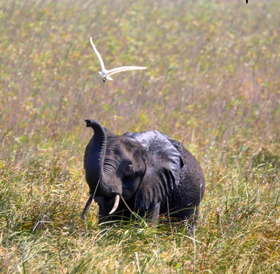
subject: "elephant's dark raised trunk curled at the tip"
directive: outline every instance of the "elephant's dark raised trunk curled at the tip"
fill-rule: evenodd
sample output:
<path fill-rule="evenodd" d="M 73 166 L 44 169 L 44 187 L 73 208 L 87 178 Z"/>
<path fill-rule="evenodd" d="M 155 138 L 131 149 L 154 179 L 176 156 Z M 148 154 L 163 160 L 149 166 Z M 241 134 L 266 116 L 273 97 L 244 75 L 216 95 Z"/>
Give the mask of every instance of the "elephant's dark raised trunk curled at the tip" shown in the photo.
<path fill-rule="evenodd" d="M 85 176 L 91 193 L 96 192 L 97 183 L 102 180 L 103 163 L 106 152 L 106 134 L 103 126 L 94 120 L 85 120 L 87 127 L 94 130 L 94 136 L 91 138 L 89 155 L 85 166 Z"/>

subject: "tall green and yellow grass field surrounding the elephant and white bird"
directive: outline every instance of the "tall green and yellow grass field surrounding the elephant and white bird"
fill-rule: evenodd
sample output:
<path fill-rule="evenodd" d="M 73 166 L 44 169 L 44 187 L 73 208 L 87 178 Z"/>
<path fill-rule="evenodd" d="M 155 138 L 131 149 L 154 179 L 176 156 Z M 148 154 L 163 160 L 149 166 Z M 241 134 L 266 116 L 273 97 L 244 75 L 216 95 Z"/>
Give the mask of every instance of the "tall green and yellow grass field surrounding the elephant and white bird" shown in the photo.
<path fill-rule="evenodd" d="M 279 1 L 1 1 L 1 273 L 279 273 Z M 107 68 L 147 66 L 104 84 Z M 206 179 L 184 225 L 100 227 L 95 119 L 182 142 Z"/>

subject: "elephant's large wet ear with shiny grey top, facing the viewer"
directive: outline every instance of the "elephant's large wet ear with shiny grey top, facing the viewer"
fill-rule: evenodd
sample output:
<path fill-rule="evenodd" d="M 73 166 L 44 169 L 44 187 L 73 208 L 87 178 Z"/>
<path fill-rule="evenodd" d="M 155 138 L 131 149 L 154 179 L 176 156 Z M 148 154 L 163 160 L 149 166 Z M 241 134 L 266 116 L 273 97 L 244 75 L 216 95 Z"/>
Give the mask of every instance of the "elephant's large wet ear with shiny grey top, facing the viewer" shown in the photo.
<path fill-rule="evenodd" d="M 178 150 L 156 130 L 129 134 L 147 151 L 145 176 L 136 193 L 135 210 L 147 210 L 179 184 L 183 161 Z"/>

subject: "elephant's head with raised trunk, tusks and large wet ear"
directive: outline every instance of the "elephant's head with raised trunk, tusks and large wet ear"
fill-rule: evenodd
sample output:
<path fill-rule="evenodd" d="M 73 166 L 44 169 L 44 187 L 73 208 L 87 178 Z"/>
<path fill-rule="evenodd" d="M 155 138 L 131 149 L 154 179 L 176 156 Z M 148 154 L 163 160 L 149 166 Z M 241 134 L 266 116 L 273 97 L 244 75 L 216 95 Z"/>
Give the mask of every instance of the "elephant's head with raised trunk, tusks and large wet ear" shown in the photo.
<path fill-rule="evenodd" d="M 85 150 L 84 168 L 90 197 L 114 197 L 119 203 L 134 199 L 132 210 L 145 211 L 179 184 L 182 159 L 169 140 L 157 131 L 127 132 L 117 136 L 94 120 L 85 120 L 94 130 Z M 110 214 L 109 213 L 109 214 Z"/>

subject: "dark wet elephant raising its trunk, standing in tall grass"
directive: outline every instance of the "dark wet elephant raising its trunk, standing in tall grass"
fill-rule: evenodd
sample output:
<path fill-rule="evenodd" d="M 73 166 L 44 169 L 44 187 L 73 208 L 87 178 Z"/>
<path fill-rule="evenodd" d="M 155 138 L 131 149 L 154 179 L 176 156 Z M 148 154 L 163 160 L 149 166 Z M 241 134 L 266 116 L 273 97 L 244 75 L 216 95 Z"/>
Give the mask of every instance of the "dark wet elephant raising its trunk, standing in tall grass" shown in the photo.
<path fill-rule="evenodd" d="M 81 218 L 94 198 L 99 223 L 132 215 L 157 223 L 168 214 L 169 221 L 196 225 L 205 179 L 180 142 L 156 130 L 115 135 L 95 120 L 85 122 L 94 135 L 84 155 L 90 196 Z"/>

